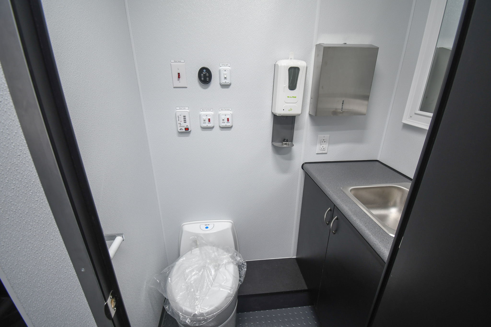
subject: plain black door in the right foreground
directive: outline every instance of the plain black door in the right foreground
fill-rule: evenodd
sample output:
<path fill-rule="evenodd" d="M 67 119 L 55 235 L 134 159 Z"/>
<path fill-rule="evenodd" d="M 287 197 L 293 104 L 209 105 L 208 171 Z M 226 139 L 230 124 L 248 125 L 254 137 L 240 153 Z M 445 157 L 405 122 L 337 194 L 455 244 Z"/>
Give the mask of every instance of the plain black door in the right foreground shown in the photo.
<path fill-rule="evenodd" d="M 491 1 L 462 16 L 370 326 L 490 325 Z"/>

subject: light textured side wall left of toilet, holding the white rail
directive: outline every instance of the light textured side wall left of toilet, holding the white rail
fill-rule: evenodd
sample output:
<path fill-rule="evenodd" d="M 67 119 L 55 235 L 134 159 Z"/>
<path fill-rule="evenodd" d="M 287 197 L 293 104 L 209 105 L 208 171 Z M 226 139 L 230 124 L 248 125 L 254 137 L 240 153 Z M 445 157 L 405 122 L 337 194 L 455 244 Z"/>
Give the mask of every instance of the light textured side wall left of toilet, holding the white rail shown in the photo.
<path fill-rule="evenodd" d="M 157 326 L 162 296 L 146 285 L 167 265 L 123 0 L 43 0 L 56 64 L 132 326 Z"/>

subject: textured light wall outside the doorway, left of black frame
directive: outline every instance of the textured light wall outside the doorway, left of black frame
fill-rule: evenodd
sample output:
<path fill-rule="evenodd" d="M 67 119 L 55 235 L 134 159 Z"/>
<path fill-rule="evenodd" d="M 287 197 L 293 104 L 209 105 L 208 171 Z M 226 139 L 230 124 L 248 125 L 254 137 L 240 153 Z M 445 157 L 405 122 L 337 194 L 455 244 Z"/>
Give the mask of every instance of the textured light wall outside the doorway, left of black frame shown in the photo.
<path fill-rule="evenodd" d="M 95 327 L 0 68 L 0 277 L 29 327 Z M 12 294 L 13 293 L 13 294 Z"/>

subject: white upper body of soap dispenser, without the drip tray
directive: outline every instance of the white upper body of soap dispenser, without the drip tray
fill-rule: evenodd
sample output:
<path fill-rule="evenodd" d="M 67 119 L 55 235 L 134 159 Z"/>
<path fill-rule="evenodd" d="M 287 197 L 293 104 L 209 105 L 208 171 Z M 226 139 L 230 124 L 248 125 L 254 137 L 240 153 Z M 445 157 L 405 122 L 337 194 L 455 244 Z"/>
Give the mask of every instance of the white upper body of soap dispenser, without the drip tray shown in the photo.
<path fill-rule="evenodd" d="M 303 87 L 307 64 L 296 59 L 282 59 L 274 64 L 273 114 L 297 116 L 302 111 Z"/>

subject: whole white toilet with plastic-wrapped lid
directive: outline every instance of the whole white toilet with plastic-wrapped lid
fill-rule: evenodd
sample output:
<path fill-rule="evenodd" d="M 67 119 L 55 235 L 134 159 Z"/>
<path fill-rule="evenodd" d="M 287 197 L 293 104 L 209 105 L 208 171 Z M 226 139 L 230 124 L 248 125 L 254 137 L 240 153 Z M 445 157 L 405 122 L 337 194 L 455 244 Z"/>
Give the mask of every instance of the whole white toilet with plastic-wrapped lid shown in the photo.
<path fill-rule="evenodd" d="M 191 240 L 193 235 L 201 236 L 209 244 L 195 248 L 196 241 Z M 214 245 L 218 246 L 215 247 Z M 184 273 L 190 263 L 208 255 L 226 255 L 223 249 L 228 247 L 239 252 L 239 243 L 234 223 L 231 220 L 207 220 L 188 222 L 181 225 L 179 233 L 179 259 L 175 263 L 169 275 L 172 285 L 168 292 L 173 293 L 174 302 L 170 304 L 172 310 L 180 316 L 193 317 L 193 308 L 198 305 L 192 298 L 192 294 L 187 293 L 186 274 Z M 237 289 L 239 287 L 239 270 L 237 265 L 230 263 L 220 266 L 216 272 L 214 282 L 219 287 L 208 290 L 206 296 L 199 303 L 199 308 L 206 312 L 206 316 L 216 315 L 210 321 L 199 324 L 203 327 L 235 327 L 237 312 Z M 190 300 L 191 299 L 191 300 Z M 219 312 L 217 314 L 217 312 Z M 193 325 L 199 322 L 199 318 L 192 318 Z M 181 324 L 180 327 L 191 325 Z"/>

